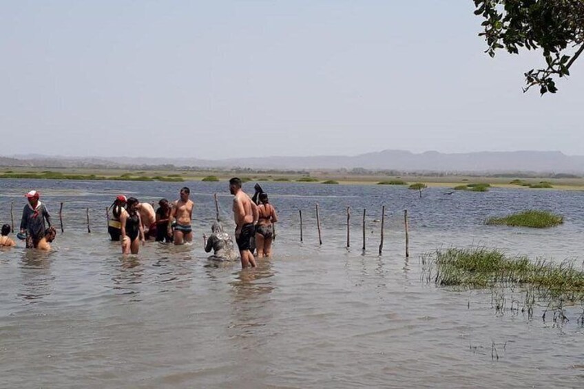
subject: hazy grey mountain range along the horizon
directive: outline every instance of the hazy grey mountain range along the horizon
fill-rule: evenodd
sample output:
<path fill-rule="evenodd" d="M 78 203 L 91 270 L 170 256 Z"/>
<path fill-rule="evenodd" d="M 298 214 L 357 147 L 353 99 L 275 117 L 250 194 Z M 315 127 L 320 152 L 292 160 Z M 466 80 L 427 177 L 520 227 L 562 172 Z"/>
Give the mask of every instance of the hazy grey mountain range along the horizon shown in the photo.
<path fill-rule="evenodd" d="M 204 160 L 198 158 L 100 158 L 60 156 L 0 157 L 0 165 L 28 167 L 149 167 L 174 165 L 195 168 L 250 169 L 367 169 L 403 172 L 501 173 L 536 172 L 584 174 L 584 156 L 567 156 L 560 151 L 481 151 L 477 153 L 444 154 L 426 151 L 384 150 L 357 156 L 268 156 Z"/>

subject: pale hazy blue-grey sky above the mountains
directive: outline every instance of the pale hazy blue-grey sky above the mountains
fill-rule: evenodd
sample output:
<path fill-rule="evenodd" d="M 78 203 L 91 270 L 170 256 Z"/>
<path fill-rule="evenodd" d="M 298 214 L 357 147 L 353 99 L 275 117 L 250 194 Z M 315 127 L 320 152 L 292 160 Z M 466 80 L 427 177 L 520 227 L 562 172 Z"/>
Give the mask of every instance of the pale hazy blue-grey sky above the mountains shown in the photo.
<path fill-rule="evenodd" d="M 1 1 L 1 155 L 584 154 L 584 59 L 523 94 L 470 0 Z M 10 144 L 10 147 L 7 145 Z"/>

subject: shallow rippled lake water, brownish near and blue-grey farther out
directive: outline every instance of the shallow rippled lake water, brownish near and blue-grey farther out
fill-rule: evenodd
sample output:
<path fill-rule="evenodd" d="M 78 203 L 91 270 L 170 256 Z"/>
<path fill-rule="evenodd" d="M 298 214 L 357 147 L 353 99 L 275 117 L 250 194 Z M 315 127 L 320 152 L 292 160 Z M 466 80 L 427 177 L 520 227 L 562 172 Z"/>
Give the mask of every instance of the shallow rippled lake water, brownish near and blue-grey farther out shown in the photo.
<path fill-rule="evenodd" d="M 10 219 L 11 200 L 18 220 L 22 193 L 33 187 L 57 225 L 59 202 L 65 203 L 65 233 L 57 236 L 54 252 L 0 251 L 1 387 L 523 388 L 582 382 L 581 307 L 568 307 L 570 322 L 563 325 L 544 322 L 544 306 L 532 318 L 500 313 L 490 291 L 426 284 L 419 260 L 439 247 L 482 244 L 581 262 L 582 192 L 428 189 L 420 199 L 417 191 L 399 187 L 262 183 L 280 213 L 275 254 L 258 269 L 241 271 L 238 263 L 209 262 L 200 238 L 215 217 L 212 193 L 223 193 L 220 215 L 229 218 L 227 185 L 188 182 L 196 202 L 194 245 L 149 243 L 138 255 L 122 257 L 105 233 L 105 207 L 114 196 L 172 200 L 183 185 L 0 180 L 3 222 Z M 386 241 L 379 256 L 380 223 L 374 220 L 382 204 Z M 541 231 L 482 224 L 490 215 L 531 207 L 559 212 L 565 224 Z M 410 214 L 409 259 L 404 209 Z M 510 293 L 521 298 L 521 291 Z"/>

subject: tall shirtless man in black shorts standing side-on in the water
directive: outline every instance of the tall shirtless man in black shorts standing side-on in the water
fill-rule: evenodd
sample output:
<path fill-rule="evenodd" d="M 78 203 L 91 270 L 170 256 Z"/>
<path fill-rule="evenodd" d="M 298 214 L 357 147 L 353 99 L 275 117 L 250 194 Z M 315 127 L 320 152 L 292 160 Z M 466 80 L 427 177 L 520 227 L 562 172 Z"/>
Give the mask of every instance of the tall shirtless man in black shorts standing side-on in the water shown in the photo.
<path fill-rule="evenodd" d="M 250 251 L 251 238 L 255 234 L 255 223 L 258 222 L 258 207 L 241 189 L 241 180 L 231 178 L 229 191 L 233 197 L 233 219 L 236 222 L 236 242 L 241 255 L 241 268 L 255 267 L 255 259 Z"/>

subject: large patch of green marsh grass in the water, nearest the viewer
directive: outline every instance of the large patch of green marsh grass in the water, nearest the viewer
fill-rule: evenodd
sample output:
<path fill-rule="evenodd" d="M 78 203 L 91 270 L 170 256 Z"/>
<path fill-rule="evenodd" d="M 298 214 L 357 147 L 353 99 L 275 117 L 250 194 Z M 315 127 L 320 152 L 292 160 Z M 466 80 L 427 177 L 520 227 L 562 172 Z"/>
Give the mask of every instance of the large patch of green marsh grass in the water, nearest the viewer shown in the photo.
<path fill-rule="evenodd" d="M 440 286 L 487 288 L 525 285 L 542 297 L 584 300 L 584 272 L 573 262 L 531 262 L 528 257 L 507 257 L 486 248 L 447 249 L 422 255 L 426 280 Z"/>

